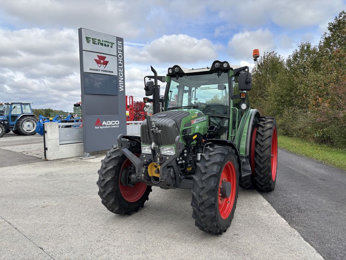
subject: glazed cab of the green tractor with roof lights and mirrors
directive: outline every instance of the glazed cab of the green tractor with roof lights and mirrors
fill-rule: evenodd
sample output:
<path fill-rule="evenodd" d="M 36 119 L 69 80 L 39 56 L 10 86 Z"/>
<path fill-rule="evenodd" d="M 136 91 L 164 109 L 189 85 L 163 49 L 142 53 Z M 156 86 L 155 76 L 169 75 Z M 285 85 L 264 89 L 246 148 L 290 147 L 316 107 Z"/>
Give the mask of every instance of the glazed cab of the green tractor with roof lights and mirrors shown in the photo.
<path fill-rule="evenodd" d="M 167 72 L 167 76 L 157 77 L 167 82 L 164 98 L 160 99 L 161 111 L 199 110 L 208 116 L 209 130 L 215 131 L 213 138 L 233 141 L 243 116 L 250 111 L 247 91 L 251 90 L 252 80 L 249 68 L 216 60 L 207 68 L 185 69 L 175 65 Z M 146 95 L 154 97 L 150 100 L 154 110 L 158 103 L 155 85 L 153 81 L 147 81 L 146 85 Z"/>

